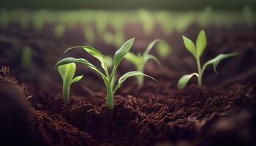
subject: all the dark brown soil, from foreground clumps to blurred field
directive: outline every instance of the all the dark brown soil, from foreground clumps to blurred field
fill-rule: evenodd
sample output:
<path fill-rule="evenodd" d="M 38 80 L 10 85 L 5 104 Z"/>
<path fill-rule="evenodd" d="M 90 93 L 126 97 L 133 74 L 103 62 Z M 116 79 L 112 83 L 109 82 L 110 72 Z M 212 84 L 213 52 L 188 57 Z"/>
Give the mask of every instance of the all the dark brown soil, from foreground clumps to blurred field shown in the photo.
<path fill-rule="evenodd" d="M 126 29 L 129 27 L 134 26 Z M 151 62 L 146 67 L 146 73 L 159 83 L 146 79 L 143 88 L 138 88 L 135 80 L 128 80 L 116 93 L 113 111 L 106 109 L 102 82 L 91 70 L 80 67 L 78 74 L 86 74 L 86 79 L 72 86 L 69 104 L 63 103 L 61 78 L 53 64 L 64 57 L 61 55 L 64 48 L 80 45 L 83 40 L 74 39 L 80 38 L 79 26 L 78 30 L 68 28 L 61 39 L 53 37 L 50 28 L 51 25 L 45 26 L 46 30 L 41 33 L 20 31 L 17 26 L 0 31 L 1 48 L 7 49 L 0 50 L 3 54 L 0 63 L 10 66 L 10 71 L 4 67 L 0 72 L 1 88 L 6 87 L 0 95 L 13 99 L 1 99 L 1 107 L 15 103 L 13 105 L 20 108 L 3 107 L 1 111 L 8 112 L 2 112 L 1 117 L 10 113 L 26 117 L 10 118 L 10 122 L 1 123 L 6 129 L 20 131 L 17 135 L 10 132 L 6 136 L 16 143 L 2 139 L 1 142 L 20 145 L 28 142 L 34 145 L 256 145 L 255 28 L 206 28 L 209 37 L 203 62 L 219 53 L 238 52 L 239 55 L 219 64 L 219 76 L 207 69 L 203 88 L 189 83 L 183 90 L 176 88 L 176 82 L 182 74 L 196 71 L 195 62 L 184 50 L 181 34 L 174 31 L 163 37 L 175 48 L 172 57 L 162 59 L 162 69 L 155 69 L 157 65 Z M 192 31 L 184 35 L 195 38 L 198 29 L 198 26 L 191 26 Z M 134 31 L 140 34 L 140 30 Z M 131 31 L 125 32 L 126 38 L 132 35 Z M 154 33 L 164 36 L 157 29 Z M 154 35 L 139 38 L 147 42 L 155 39 L 152 37 Z M 33 67 L 29 69 L 20 66 L 17 57 L 22 53 L 19 47 L 26 45 L 33 47 Z M 94 42 L 94 47 L 108 55 L 115 52 L 102 49 L 113 46 L 102 44 L 100 40 Z M 136 47 L 140 48 L 140 44 L 135 42 Z M 70 55 L 89 57 L 81 53 Z M 152 53 L 157 54 L 155 50 Z M 123 61 L 118 74 L 124 74 L 127 69 L 134 68 Z M 24 83 L 20 84 L 10 74 Z M 16 121 L 20 121 L 19 126 L 12 128 Z M 4 135 L 5 131 L 0 134 Z M 20 139 L 21 136 L 27 137 Z"/>

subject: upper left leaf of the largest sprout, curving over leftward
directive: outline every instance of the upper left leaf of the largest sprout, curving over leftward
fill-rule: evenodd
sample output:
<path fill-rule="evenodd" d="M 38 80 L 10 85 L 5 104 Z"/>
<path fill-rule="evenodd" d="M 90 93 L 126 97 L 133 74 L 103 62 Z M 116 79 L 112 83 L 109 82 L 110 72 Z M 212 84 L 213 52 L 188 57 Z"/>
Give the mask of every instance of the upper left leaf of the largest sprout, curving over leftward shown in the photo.
<path fill-rule="evenodd" d="M 78 48 L 78 47 L 83 47 L 83 50 L 85 50 L 87 53 L 89 53 L 90 55 L 92 55 L 95 58 L 97 58 L 100 61 L 101 66 L 104 69 L 105 73 L 108 74 L 108 65 L 107 65 L 105 56 L 102 55 L 102 53 L 100 53 L 98 50 L 94 49 L 93 47 L 90 47 L 90 46 L 69 47 L 64 53 L 66 53 L 68 50 L 71 50 L 71 49 L 74 49 L 74 48 Z"/>

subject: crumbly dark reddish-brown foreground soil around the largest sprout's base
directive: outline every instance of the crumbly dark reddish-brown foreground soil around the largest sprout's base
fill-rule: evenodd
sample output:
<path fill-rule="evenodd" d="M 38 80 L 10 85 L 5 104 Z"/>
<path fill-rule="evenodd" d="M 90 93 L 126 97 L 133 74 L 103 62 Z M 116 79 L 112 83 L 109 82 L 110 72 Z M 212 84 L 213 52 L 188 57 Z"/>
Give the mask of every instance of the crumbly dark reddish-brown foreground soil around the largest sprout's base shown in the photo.
<path fill-rule="evenodd" d="M 1 80 L 10 82 L 6 75 L 2 71 Z M 14 83 L 17 84 L 12 80 L 11 84 Z M 38 91 L 37 101 L 28 99 L 37 142 L 42 145 L 256 144 L 256 90 L 252 82 L 233 91 L 200 89 L 196 85 L 177 91 L 151 82 L 144 88 L 162 94 L 138 91 L 135 96 L 116 96 L 113 111 L 106 109 L 104 93 L 86 98 L 72 96 L 66 105 L 60 94 Z"/>

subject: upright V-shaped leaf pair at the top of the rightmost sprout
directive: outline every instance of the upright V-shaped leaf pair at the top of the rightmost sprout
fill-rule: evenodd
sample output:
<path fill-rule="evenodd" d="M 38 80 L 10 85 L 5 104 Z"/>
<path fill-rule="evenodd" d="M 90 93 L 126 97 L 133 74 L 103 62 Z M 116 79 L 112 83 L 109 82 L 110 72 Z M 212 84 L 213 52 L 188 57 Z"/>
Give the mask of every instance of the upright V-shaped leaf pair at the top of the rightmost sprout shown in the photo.
<path fill-rule="evenodd" d="M 203 51 L 206 49 L 207 39 L 206 39 L 206 33 L 205 31 L 200 31 L 200 33 L 197 36 L 196 46 L 194 42 L 192 42 L 187 37 L 182 36 L 184 45 L 191 53 L 194 55 L 195 58 L 200 58 L 200 56 L 203 54 Z"/>

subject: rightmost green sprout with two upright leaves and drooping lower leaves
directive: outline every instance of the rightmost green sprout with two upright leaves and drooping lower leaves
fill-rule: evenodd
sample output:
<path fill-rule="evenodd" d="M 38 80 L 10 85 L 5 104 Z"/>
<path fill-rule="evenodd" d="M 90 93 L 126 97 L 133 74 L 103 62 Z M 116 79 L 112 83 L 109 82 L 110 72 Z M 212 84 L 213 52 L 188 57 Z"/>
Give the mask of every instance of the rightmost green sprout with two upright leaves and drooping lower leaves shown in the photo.
<path fill-rule="evenodd" d="M 183 37 L 185 47 L 187 48 L 189 53 L 191 53 L 195 57 L 195 60 L 197 61 L 198 73 L 186 74 L 186 75 L 182 76 L 181 79 L 178 80 L 178 88 L 179 89 L 184 88 L 187 85 L 187 82 L 190 80 L 190 78 L 193 77 L 194 75 L 197 77 L 198 86 L 202 87 L 203 72 L 205 71 L 205 69 L 208 65 L 212 64 L 214 66 L 214 72 L 216 72 L 216 74 L 218 74 L 218 72 L 216 70 L 216 67 L 217 67 L 217 65 L 219 64 L 220 61 L 222 61 L 225 58 L 229 58 L 229 57 L 232 57 L 234 55 L 238 55 L 238 53 L 220 54 L 220 55 L 217 55 L 216 58 L 213 58 L 210 61 L 206 62 L 206 64 L 204 64 L 203 67 L 201 67 L 201 65 L 200 65 L 200 56 L 203 54 L 203 51 L 205 50 L 206 44 L 207 44 L 205 31 L 202 30 L 198 34 L 197 41 L 196 41 L 196 46 L 187 37 L 184 37 L 184 36 L 182 36 L 182 37 Z"/>

